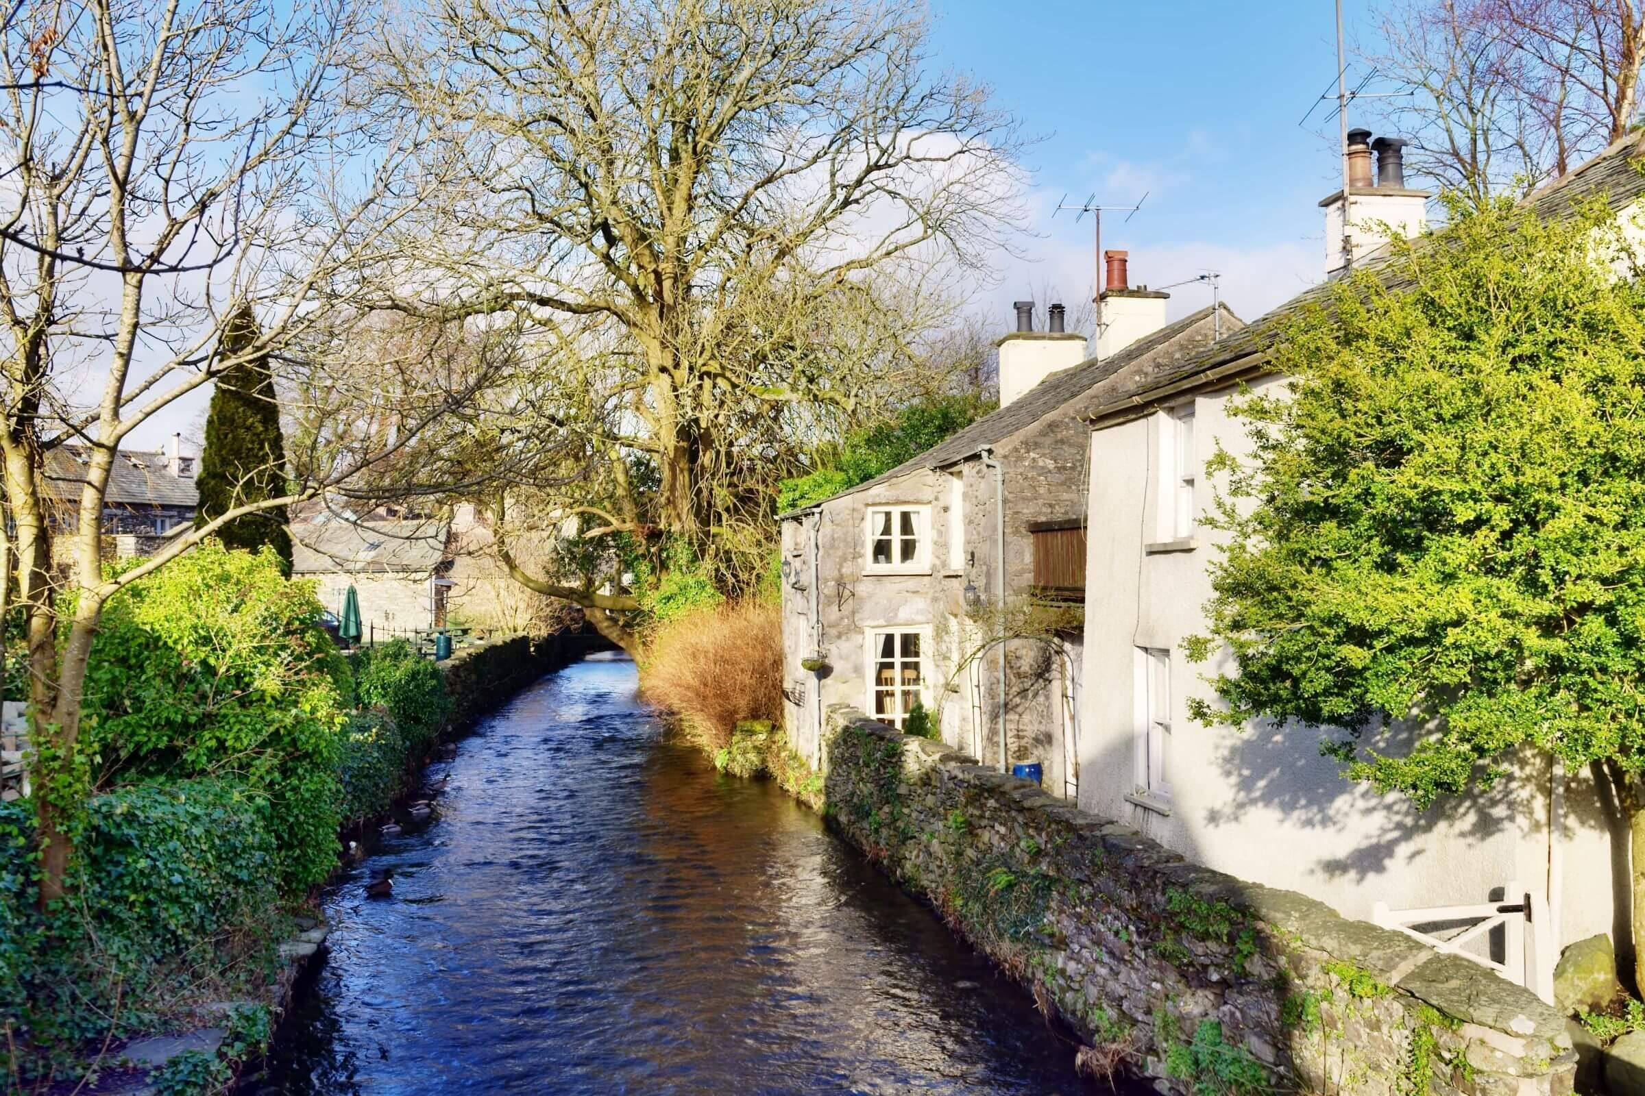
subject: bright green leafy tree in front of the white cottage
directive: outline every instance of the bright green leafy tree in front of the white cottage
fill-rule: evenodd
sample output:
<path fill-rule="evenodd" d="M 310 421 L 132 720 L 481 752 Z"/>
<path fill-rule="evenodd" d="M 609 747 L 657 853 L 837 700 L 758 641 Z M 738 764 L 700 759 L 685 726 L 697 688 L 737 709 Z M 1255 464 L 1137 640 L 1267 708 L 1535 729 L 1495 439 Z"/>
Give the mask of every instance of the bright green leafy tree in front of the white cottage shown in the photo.
<path fill-rule="evenodd" d="M 1230 536 L 1186 647 L 1237 670 L 1198 718 L 1323 728 L 1347 777 L 1418 807 L 1527 756 L 1589 767 L 1630 820 L 1638 942 L 1645 284 L 1622 228 L 1597 202 L 1453 204 L 1390 278 L 1296 317 L 1270 348 L 1288 391 L 1242 401 L 1253 460 L 1214 463 Z"/>

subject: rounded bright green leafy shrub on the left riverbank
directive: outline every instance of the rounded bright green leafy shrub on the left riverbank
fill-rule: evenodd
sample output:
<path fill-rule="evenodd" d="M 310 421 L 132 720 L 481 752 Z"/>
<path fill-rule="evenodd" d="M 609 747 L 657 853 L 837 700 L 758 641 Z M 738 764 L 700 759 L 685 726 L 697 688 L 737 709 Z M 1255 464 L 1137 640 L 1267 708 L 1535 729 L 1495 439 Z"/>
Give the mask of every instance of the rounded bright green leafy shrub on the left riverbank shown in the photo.
<path fill-rule="evenodd" d="M 97 781 L 234 771 L 268 799 L 288 889 L 337 863 L 341 656 L 280 557 L 206 541 L 115 595 L 86 680 Z"/>

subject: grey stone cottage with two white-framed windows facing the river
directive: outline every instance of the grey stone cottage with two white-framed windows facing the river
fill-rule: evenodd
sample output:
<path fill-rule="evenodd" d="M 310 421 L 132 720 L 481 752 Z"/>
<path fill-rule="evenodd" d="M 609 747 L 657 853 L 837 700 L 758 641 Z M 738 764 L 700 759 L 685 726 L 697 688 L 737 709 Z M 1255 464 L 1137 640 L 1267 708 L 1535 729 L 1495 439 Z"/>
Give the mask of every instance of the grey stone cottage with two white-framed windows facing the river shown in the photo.
<path fill-rule="evenodd" d="M 1168 371 L 1232 334 L 1226 307 L 1165 322 L 1110 253 L 1097 355 L 1063 330 L 999 342 L 1000 409 L 860 486 L 781 516 L 786 720 L 818 758 L 822 711 L 849 703 L 905 726 L 918 702 L 949 744 L 1043 766 L 1073 797 L 1084 601 L 1082 414 L 1109 378 Z"/>

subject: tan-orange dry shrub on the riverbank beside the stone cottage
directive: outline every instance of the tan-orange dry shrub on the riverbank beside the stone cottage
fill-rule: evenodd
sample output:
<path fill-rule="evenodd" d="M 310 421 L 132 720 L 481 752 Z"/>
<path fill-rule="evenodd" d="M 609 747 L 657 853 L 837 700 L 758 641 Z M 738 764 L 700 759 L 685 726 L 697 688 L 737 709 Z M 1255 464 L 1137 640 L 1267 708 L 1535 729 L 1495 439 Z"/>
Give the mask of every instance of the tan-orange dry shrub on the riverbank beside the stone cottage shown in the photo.
<path fill-rule="evenodd" d="M 729 748 L 745 720 L 781 726 L 780 610 L 737 601 L 663 624 L 646 647 L 640 685 L 709 753 Z"/>

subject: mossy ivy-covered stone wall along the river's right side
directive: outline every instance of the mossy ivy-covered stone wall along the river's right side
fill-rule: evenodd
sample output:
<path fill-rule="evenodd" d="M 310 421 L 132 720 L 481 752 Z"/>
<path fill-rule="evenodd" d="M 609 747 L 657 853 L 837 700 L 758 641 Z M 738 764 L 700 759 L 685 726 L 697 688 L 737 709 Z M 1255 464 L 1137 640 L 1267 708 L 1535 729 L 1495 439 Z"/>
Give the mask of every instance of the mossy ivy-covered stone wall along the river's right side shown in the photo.
<path fill-rule="evenodd" d="M 1166 1091 L 1564 1096 L 1530 991 L 1290 891 L 1186 863 L 941 743 L 829 713 L 826 813 L 1089 1043 Z"/>

